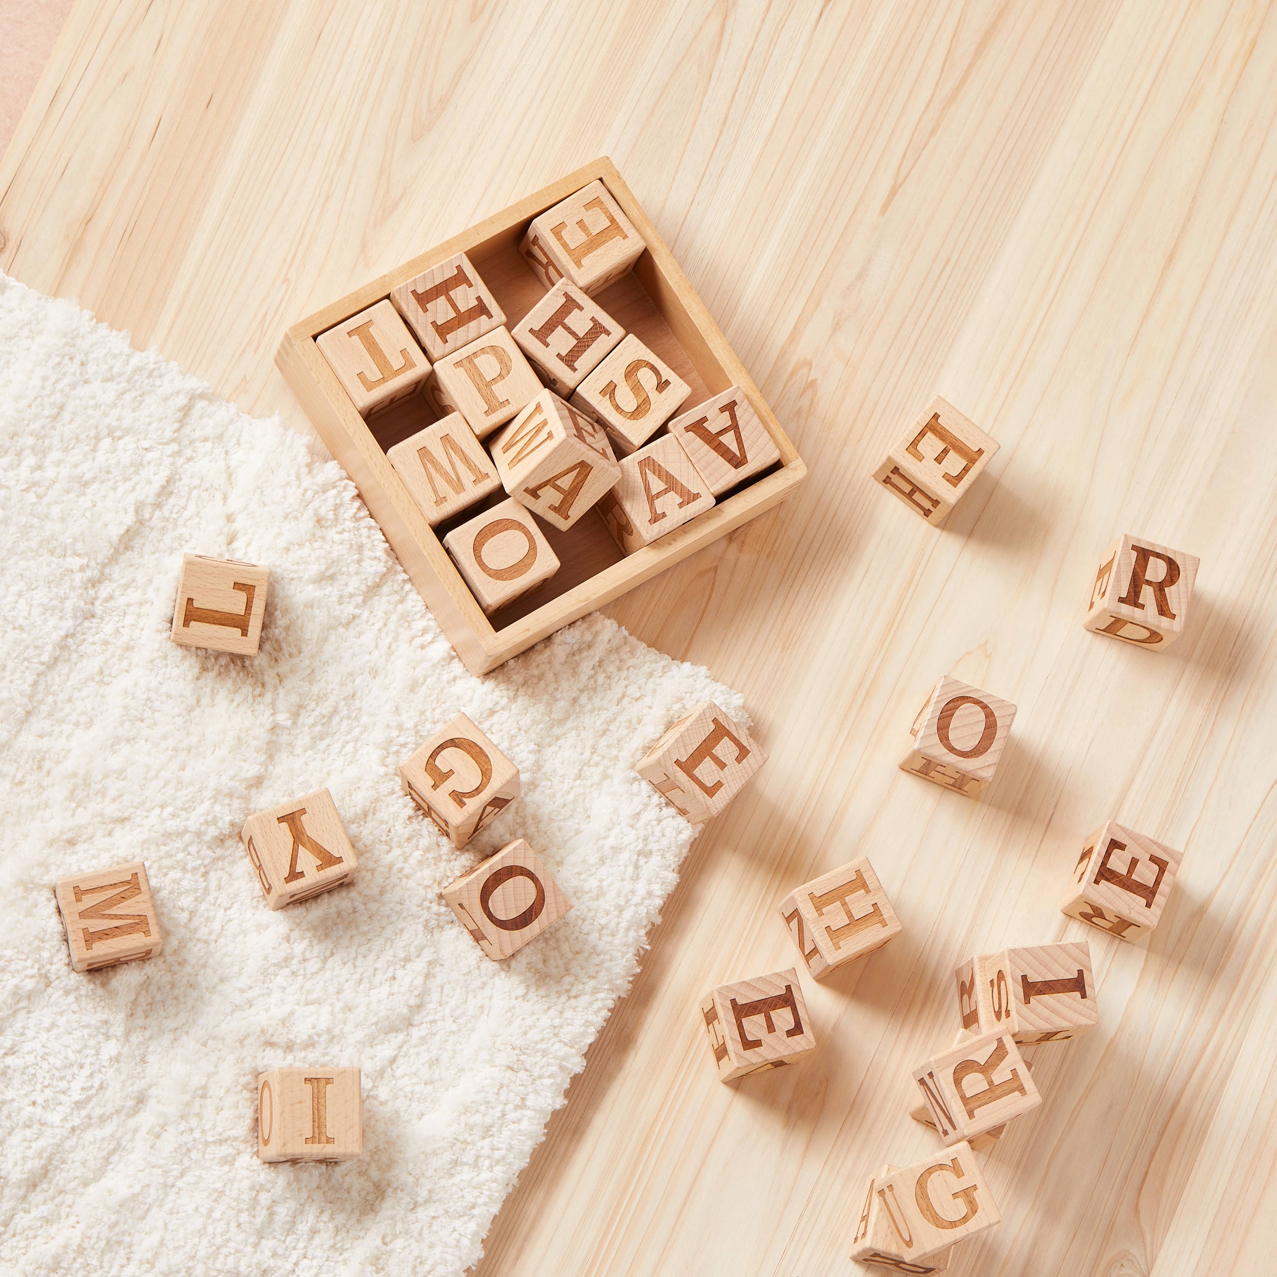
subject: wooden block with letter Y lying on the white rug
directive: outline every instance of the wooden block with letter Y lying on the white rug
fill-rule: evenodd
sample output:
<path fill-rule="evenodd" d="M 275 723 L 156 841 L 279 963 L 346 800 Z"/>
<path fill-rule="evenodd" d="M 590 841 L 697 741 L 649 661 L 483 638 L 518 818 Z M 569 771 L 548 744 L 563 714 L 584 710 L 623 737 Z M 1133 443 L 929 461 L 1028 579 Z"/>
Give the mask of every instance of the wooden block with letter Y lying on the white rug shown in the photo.
<path fill-rule="evenodd" d="M 240 840 L 272 909 L 331 891 L 359 868 L 327 789 L 254 812 L 244 821 Z"/>

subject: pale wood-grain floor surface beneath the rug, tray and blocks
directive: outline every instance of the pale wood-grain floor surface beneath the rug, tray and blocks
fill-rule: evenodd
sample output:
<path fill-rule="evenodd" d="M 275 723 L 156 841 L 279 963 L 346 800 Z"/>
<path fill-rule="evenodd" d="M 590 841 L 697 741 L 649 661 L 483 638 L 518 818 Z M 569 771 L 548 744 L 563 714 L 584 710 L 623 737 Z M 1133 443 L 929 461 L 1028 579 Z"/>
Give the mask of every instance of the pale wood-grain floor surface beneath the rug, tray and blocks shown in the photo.
<path fill-rule="evenodd" d="M 954 1277 L 1272 1272 L 1277 13 L 1226 0 L 82 0 L 0 166 L 0 267 L 305 428 L 283 327 L 610 155 L 806 457 L 778 512 L 612 613 L 742 688 L 771 761 L 488 1239 L 498 1274 L 849 1273 L 858 1176 L 933 1147 L 908 1069 L 973 951 L 1108 816 L 1184 848 L 1101 1025 L 1037 1048 Z M 1001 443 L 942 531 L 875 488 L 940 392 Z M 1122 531 L 1200 555 L 1188 635 L 1082 630 Z M 1019 706 L 978 803 L 896 770 L 951 672 Z M 738 1089 L 696 1002 L 790 964 L 787 889 L 868 854 L 904 935 Z M 1266 1222 L 1267 1221 L 1267 1222 Z"/>

